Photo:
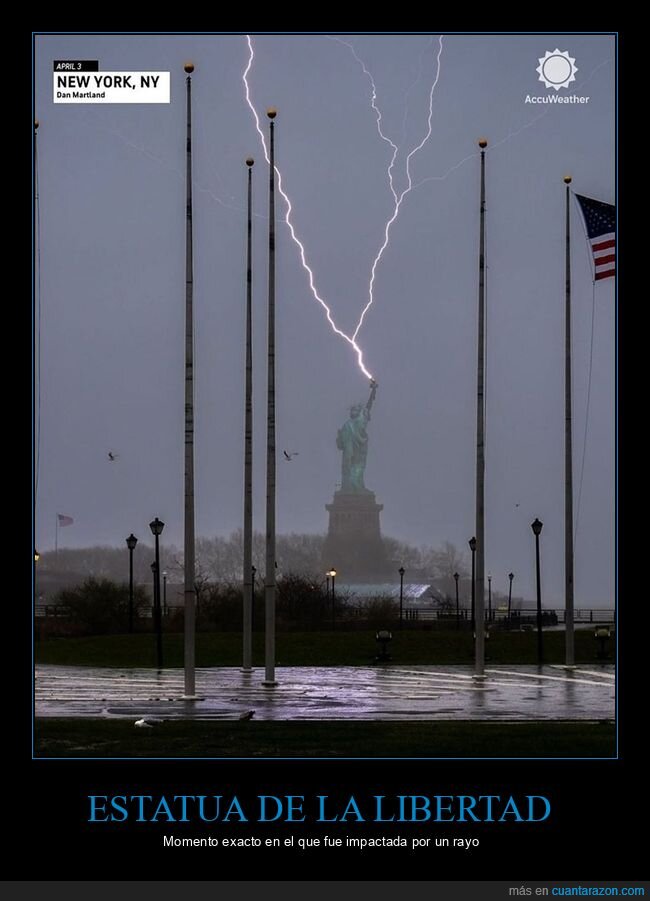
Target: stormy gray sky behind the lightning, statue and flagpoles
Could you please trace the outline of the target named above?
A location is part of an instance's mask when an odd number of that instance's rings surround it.
[[[341,36],[377,86],[385,133],[406,152],[427,132],[438,35]],[[257,36],[249,80],[258,111],[278,108],[276,160],[321,295],[353,331],[393,210],[370,83],[350,49],[325,35]],[[561,94],[588,103],[532,105],[555,94],[538,59],[576,60]],[[171,71],[166,105],[55,105],[53,59],[105,71]],[[41,401],[39,549],[56,513],[61,545],[182,544],[184,73],[196,65],[194,266],[197,534],[242,520],[244,192],[255,157],[255,526],[264,528],[266,210],[268,170],[245,102],[244,36],[42,36],[40,120]],[[563,597],[564,271],[562,176],[613,203],[615,44],[595,35],[446,35],[431,137],[413,157],[359,335],[379,382],[366,484],[382,528],[414,544],[466,549],[474,531],[478,247],[476,139],[487,154],[486,568],[493,587],[534,592],[530,523],[542,532],[545,603]],[[265,119],[265,117],[264,117]],[[264,123],[266,127],[266,122]],[[278,205],[284,216],[285,206]],[[615,575],[615,297],[594,291],[573,208],[576,603],[611,605]],[[367,379],[309,290],[295,244],[277,242],[278,530],[324,532],[340,478],[336,431]],[[593,355],[586,419],[590,349]],[[119,459],[110,463],[107,452]],[[341,574],[344,578],[344,574]]]

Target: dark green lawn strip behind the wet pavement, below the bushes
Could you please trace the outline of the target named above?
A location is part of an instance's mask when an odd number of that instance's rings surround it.
[[[537,662],[537,637],[534,632],[492,632],[486,643],[488,663],[513,664]],[[377,653],[375,631],[363,632],[278,632],[278,666],[367,666]],[[183,665],[183,636],[164,636],[163,662]],[[598,642],[592,629],[575,633],[576,663],[594,664]],[[389,652],[393,663],[433,664],[466,663],[473,659],[469,631],[393,630]],[[610,641],[608,663],[613,663],[614,641]],[[196,636],[197,666],[240,666],[241,636],[236,632],[200,632]],[[87,638],[50,638],[35,644],[37,663],[68,666],[155,666],[152,634],[98,635]],[[544,633],[545,663],[564,663],[564,632]],[[253,664],[264,664],[264,635],[253,636]]]

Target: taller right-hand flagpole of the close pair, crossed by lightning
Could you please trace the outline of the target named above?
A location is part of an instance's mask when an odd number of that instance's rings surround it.
[[[275,147],[276,110],[267,111],[269,123],[269,300],[268,300],[268,376],[266,432],[266,573],[264,682],[275,681]]]

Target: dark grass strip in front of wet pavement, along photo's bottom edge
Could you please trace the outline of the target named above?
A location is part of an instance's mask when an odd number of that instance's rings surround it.
[[[612,757],[609,722],[36,720],[37,757]]]

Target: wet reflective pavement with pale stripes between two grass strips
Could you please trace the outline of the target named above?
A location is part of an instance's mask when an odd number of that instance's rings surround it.
[[[197,699],[183,700],[183,671],[38,666],[36,716],[232,720],[613,720],[611,664],[197,669]]]

